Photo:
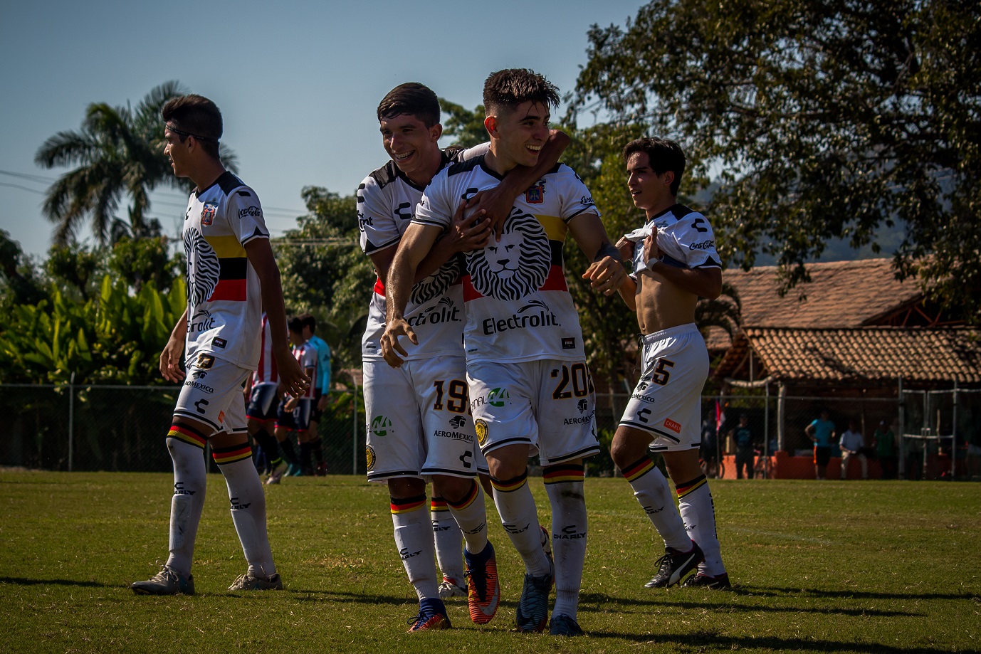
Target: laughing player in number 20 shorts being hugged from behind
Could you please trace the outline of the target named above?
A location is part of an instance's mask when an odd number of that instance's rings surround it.
[[[417,342],[404,312],[423,257],[444,229],[466,216],[464,201],[496,185],[518,166],[534,168],[548,137],[557,89],[531,71],[500,71],[484,86],[490,150],[452,164],[427,187],[388,274],[386,361],[405,365]],[[522,631],[547,624],[548,593],[556,584],[550,632],[579,635],[579,589],[586,556],[583,459],[599,450],[594,388],[579,318],[565,285],[562,244],[568,232],[584,252],[618,253],[599,221],[582,180],[563,165],[548,166],[518,196],[498,238],[466,253],[464,346],[471,410],[490,466],[494,503],[526,569],[516,623]],[[625,275],[625,274],[624,274]],[[409,350],[406,350],[406,347]],[[542,543],[528,458],[538,452],[552,508],[554,565]],[[544,546],[543,546],[544,545]]]

